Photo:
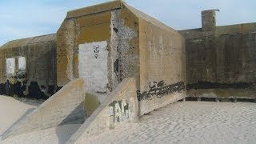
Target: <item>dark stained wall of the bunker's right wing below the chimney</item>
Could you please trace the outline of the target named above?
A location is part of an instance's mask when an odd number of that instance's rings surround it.
[[[256,23],[182,30],[188,95],[255,98]]]

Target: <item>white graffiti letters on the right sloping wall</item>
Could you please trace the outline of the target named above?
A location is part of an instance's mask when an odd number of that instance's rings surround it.
[[[129,120],[131,115],[131,103],[122,101],[114,101],[109,105],[109,114],[114,116],[114,122],[123,122]]]

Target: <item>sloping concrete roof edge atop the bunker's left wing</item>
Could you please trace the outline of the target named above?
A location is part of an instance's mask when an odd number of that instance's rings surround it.
[[[0,47],[0,49],[8,49],[8,48],[14,48],[18,46],[27,46],[34,43],[39,42],[56,42],[57,36],[56,34],[46,34],[46,35],[40,35],[36,37],[31,38],[22,38],[22,39],[16,39],[10,42],[6,42],[3,46]]]

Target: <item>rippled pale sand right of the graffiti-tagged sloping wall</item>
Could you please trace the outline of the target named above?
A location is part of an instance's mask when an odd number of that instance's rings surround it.
[[[88,143],[256,143],[256,105],[176,102]]]

